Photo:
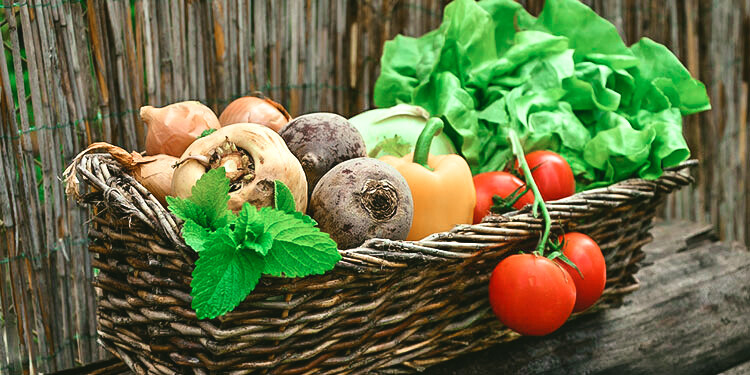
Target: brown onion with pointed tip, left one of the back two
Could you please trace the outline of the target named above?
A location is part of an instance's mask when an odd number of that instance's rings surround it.
[[[200,102],[186,101],[155,108],[141,107],[141,120],[148,125],[146,153],[179,157],[204,130],[219,129],[219,119]]]

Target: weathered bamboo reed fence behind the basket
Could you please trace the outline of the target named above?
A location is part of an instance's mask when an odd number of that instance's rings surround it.
[[[87,215],[60,174],[85,145],[142,150],[141,105],[220,111],[254,91],[292,115],[372,107],[383,42],[441,21],[441,0],[0,0],[0,374],[104,358]],[[521,1],[538,14],[542,0]],[[662,214],[750,243],[750,0],[586,0],[626,42],[669,46],[713,111],[686,119],[698,183]],[[21,78],[23,77],[23,78]]]

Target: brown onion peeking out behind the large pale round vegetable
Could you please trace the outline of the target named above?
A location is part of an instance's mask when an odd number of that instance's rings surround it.
[[[241,123],[254,123],[267,126],[279,132],[291,116],[284,107],[271,99],[245,96],[234,100],[221,112],[221,126]]]

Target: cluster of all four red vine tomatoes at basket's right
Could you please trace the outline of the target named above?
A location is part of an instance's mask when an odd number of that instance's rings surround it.
[[[575,194],[573,171],[560,155],[535,151],[525,159],[544,201]],[[523,178],[518,161],[515,170]],[[521,178],[508,171],[476,175],[474,222],[482,221],[490,211],[521,209],[534,203],[533,193]],[[571,232],[560,236],[557,243],[560,256],[512,255],[501,261],[490,277],[493,312],[504,325],[522,335],[554,332],[572,313],[594,305],[604,291],[607,267],[596,242],[583,233]]]

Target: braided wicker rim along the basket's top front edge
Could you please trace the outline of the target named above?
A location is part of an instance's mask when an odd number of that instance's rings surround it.
[[[89,184],[93,183],[97,188],[111,190],[106,184],[102,184],[101,181],[97,183],[95,181],[96,177],[85,167],[89,166],[91,168],[93,164],[96,164],[97,159],[99,163],[103,162],[120,166],[107,153],[84,155],[77,165],[71,166],[74,166],[77,172],[82,174]],[[564,226],[569,219],[580,216],[580,213],[592,213],[601,208],[617,208],[633,199],[651,198],[658,192],[669,193],[692,183],[694,179],[683,171],[696,165],[698,165],[698,160],[687,160],[675,167],[666,168],[662,176],[657,179],[630,178],[609,186],[584,190],[560,200],[545,202],[545,204],[553,223],[558,227]],[[182,226],[182,221],[166,209],[166,207],[159,204],[156,198],[143,185],[132,178],[132,176],[123,173],[122,177],[127,180],[127,183],[133,186],[134,190],[148,197],[150,202],[145,202],[147,203],[145,206],[154,211],[157,217],[164,216],[164,220],[160,220],[163,222],[163,225],[161,225],[162,228],[161,230],[156,230],[156,232],[170,245],[178,247],[183,252],[195,255],[194,250],[190,249],[178,234]],[[114,192],[105,190],[105,200],[108,203],[118,200],[117,194],[112,193]],[[131,196],[134,195],[136,194],[131,194]],[[92,203],[86,197],[77,196],[77,198],[81,203]],[[123,197],[119,198],[121,198],[120,201],[116,203],[119,206],[125,206],[121,207],[125,208],[121,210],[124,216],[136,214],[135,216],[139,216],[141,221],[153,227],[153,223],[143,220],[145,218],[143,214],[137,215],[138,213],[135,211],[138,208],[133,204],[134,202],[122,202]],[[130,204],[128,205],[128,203]],[[140,206],[144,207],[144,202],[138,203],[141,203]],[[160,217],[160,219],[162,218]],[[532,213],[531,205],[527,205],[520,210],[503,215],[488,215],[479,224],[459,224],[449,231],[434,233],[417,241],[372,238],[366,240],[358,247],[339,249],[342,260],[336,265],[336,268],[352,268],[359,272],[383,272],[387,269],[407,267],[414,261],[420,263],[432,260],[459,261],[471,258],[485,248],[497,247],[508,242],[527,239],[533,236],[535,232],[541,230],[542,223],[542,218],[535,217]],[[495,240],[504,239],[505,241],[502,243],[482,242],[478,240],[481,239],[482,235],[492,235]],[[501,237],[498,237],[498,235]],[[188,256],[187,258],[191,257]]]

